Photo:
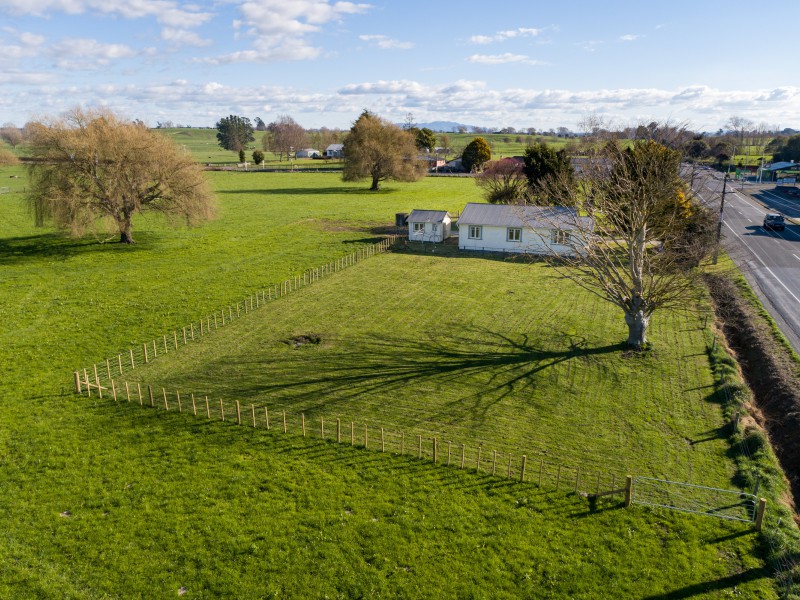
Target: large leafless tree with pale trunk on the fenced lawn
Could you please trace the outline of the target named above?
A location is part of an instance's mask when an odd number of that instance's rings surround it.
[[[573,256],[551,249],[552,264],[618,306],[628,346],[637,349],[647,344],[656,310],[685,306],[693,289],[691,267],[713,240],[713,219],[709,224],[705,209],[687,195],[680,162],[677,151],[652,140],[627,149],[609,142],[582,170],[577,186],[555,178],[540,184],[556,204],[580,207],[565,213],[569,222],[556,236]]]

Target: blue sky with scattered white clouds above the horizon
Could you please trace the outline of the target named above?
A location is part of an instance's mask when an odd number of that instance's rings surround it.
[[[800,129],[796,4],[729,0],[0,0],[0,123],[107,107],[349,128],[578,131],[732,116]]]

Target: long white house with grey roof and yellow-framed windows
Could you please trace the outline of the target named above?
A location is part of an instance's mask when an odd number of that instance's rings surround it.
[[[575,253],[574,236],[591,229],[589,217],[556,206],[470,202],[458,219],[460,250],[564,255]]]

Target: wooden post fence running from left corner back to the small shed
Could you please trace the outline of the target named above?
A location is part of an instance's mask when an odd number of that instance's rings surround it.
[[[173,330],[168,334],[163,334],[160,338],[154,338],[149,342],[142,343],[141,346],[129,348],[124,352],[118,353],[116,356],[106,358],[100,363],[93,364],[91,367],[88,367],[94,375],[94,383],[90,385],[97,390],[98,394],[101,394],[110,386],[112,379],[123,378],[126,373],[136,369],[137,366],[141,367],[141,365],[148,364],[161,354],[176,352],[181,346],[185,346],[189,342],[197,341],[220,327],[224,327],[231,321],[240,319],[244,315],[274,300],[278,300],[291,292],[307,287],[320,279],[338,273],[362,260],[387,252],[397,241],[398,237],[400,236],[387,236],[377,244],[364,246],[351,254],[337,258],[324,265],[306,269],[300,275],[295,275],[280,283],[256,290],[254,294],[250,294],[243,300],[217,309],[211,314],[204,315],[197,321],[192,321],[180,329]],[[75,390],[78,393],[81,392],[81,382],[79,381],[81,371],[86,370],[87,368],[83,368],[75,371]],[[88,377],[84,377],[84,381],[86,380],[88,380]],[[101,383],[104,383],[105,387],[97,387]]]

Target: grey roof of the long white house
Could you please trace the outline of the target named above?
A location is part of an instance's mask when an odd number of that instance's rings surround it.
[[[460,225],[529,227],[532,229],[591,228],[589,217],[577,217],[571,208],[561,206],[518,206],[470,202],[458,218]]]

